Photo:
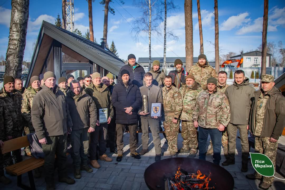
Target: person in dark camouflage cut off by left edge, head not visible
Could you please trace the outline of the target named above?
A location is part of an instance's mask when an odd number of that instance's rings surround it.
[[[7,109],[6,103],[0,99],[0,148],[8,140],[8,136],[13,135],[13,121]],[[10,153],[6,153],[10,154]],[[0,153],[0,182],[11,183],[11,180],[4,175],[5,159]]]

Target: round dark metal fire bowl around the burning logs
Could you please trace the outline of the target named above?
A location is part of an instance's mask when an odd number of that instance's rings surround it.
[[[144,171],[144,181],[151,190],[163,190],[165,177],[173,177],[180,166],[188,173],[201,173],[208,176],[211,173],[209,187],[215,190],[232,190],[234,188],[233,176],[223,167],[212,162],[196,158],[168,158],[154,162]]]

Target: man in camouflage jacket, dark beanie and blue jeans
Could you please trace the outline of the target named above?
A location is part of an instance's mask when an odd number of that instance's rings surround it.
[[[213,163],[220,164],[222,132],[229,124],[230,106],[224,93],[217,91],[217,79],[207,80],[207,90],[197,98],[193,112],[194,127],[199,126],[199,159],[206,160],[206,144],[210,134],[213,143]]]

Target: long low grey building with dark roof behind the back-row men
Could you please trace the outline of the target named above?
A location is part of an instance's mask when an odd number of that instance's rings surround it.
[[[166,57],[166,67],[174,67],[174,61],[176,59],[180,59],[183,63],[183,67],[186,67],[186,57]],[[154,60],[158,60],[160,62],[160,67],[163,68],[164,64],[163,64],[163,57],[152,57],[151,58],[151,62],[153,62]],[[140,64],[143,67],[148,67],[148,62],[149,62],[149,58],[148,57],[140,57],[138,59],[138,64]],[[195,65],[198,62],[198,57],[193,57],[193,65]],[[215,67],[215,62],[209,62],[209,64],[212,67]]]

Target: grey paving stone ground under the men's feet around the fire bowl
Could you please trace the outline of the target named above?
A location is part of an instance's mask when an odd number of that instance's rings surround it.
[[[130,157],[130,150],[129,150],[129,134],[124,134],[124,154],[122,162],[116,162],[117,155],[107,152],[106,154],[113,159],[112,162],[105,162],[99,160],[99,164],[101,167],[99,169],[93,168],[92,173],[87,173],[86,171],[82,171],[81,179],[75,179],[76,183],[73,185],[67,185],[66,183],[59,183],[57,182],[57,171],[55,171],[54,181],[56,189],[58,190],[145,190],[148,189],[146,183],[144,182],[144,170],[150,164],[154,163],[154,145],[152,143],[152,136],[151,133],[149,134],[149,152],[146,153],[144,156],[141,156],[140,160],[136,160],[133,157]],[[161,145],[162,145],[162,152],[166,151],[167,144],[164,144],[165,139],[162,134],[160,134],[161,138]],[[285,136],[281,136],[279,141],[281,144],[285,144]],[[209,144],[209,139],[208,142]],[[182,137],[179,133],[178,135],[178,149],[182,147]],[[139,148],[137,152],[142,149],[141,146],[141,134],[139,134]],[[254,152],[254,149],[251,149],[251,152]],[[222,160],[221,162],[225,161],[225,156],[223,155],[223,150],[221,151]],[[187,157],[188,154],[178,154],[178,157]],[[170,158],[170,156],[161,156],[161,159]],[[198,158],[198,154],[195,158]],[[212,162],[212,156],[206,157],[207,161]],[[72,158],[68,156],[68,175],[74,178],[73,174],[73,165],[72,165]],[[221,166],[221,164],[220,164]],[[259,180],[249,180],[245,177],[246,174],[253,173],[254,169],[251,165],[249,160],[249,171],[247,173],[241,172],[241,142],[240,139],[237,138],[237,150],[236,150],[236,159],[235,165],[230,166],[221,166],[227,169],[235,180],[235,188],[234,189],[259,189],[258,184],[260,183]],[[44,168],[41,168],[42,177],[35,179],[36,189],[45,190],[46,183],[44,181]],[[7,176],[7,175],[6,175]],[[275,173],[275,176],[278,178],[284,179],[279,173]],[[12,180],[12,183],[9,185],[2,185],[0,189],[2,190],[16,190],[21,189],[17,187],[17,177],[7,176]],[[29,185],[28,175],[25,173],[22,177],[22,181],[24,184]],[[274,179],[274,183],[269,188],[270,190],[281,190],[285,189],[285,180]]]

